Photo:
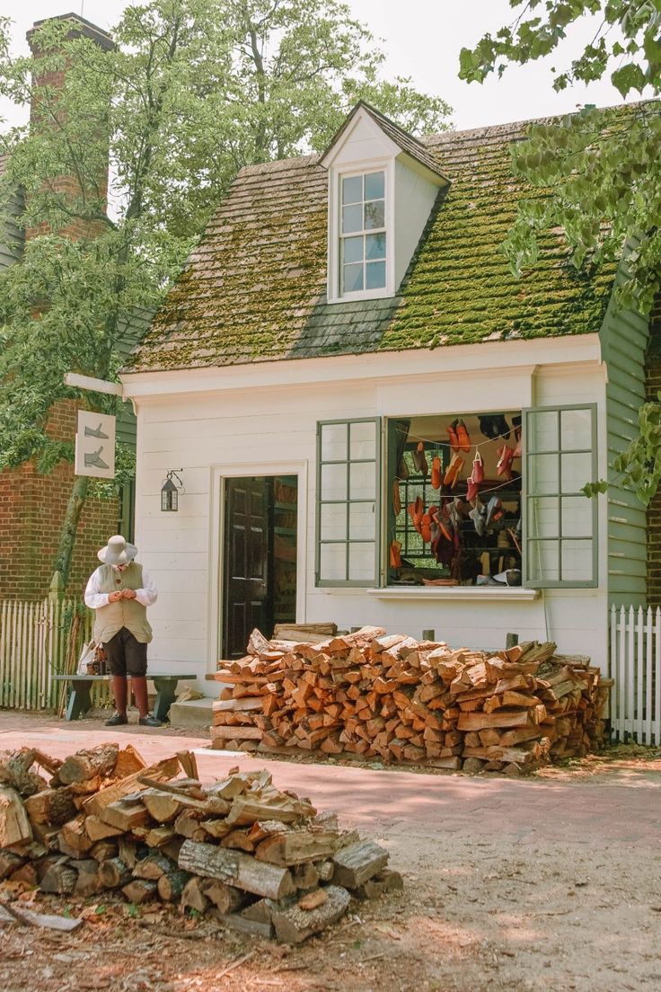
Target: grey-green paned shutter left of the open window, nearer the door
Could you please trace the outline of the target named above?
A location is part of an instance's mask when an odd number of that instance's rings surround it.
[[[381,418],[317,424],[316,585],[375,585]]]

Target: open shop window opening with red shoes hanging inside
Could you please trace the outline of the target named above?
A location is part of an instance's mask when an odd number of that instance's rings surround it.
[[[521,442],[521,411],[388,421],[388,585],[521,585]]]

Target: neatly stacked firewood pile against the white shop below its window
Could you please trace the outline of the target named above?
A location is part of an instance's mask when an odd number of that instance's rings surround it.
[[[528,642],[453,650],[383,628],[320,643],[267,641],[221,662],[211,740],[229,750],[302,748],[467,772],[530,771],[604,736],[607,682],[590,659]]]

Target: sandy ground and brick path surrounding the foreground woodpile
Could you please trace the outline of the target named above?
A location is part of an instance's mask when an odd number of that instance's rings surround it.
[[[63,756],[119,737],[147,758],[206,743],[0,713],[0,749],[34,743]],[[205,780],[235,764],[269,767],[276,785],[337,810],[388,848],[404,891],[352,904],[337,927],[296,948],[105,894],[86,905],[26,894],[85,923],[63,936],[5,927],[0,989],[661,988],[661,753],[620,748],[518,781],[197,755]]]

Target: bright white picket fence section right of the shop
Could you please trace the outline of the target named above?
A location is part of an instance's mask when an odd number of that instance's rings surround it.
[[[610,608],[610,728],[661,747],[661,609]]]

